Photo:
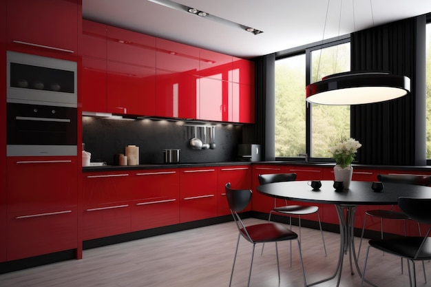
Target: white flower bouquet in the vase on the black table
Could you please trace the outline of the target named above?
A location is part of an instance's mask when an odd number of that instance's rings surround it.
[[[355,138],[341,138],[341,140],[335,142],[333,147],[330,147],[329,152],[333,154],[335,162],[344,169],[353,162],[357,150],[361,146]]]

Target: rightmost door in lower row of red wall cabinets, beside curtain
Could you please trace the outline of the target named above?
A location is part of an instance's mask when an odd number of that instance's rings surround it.
[[[231,85],[229,122],[255,123],[255,87],[239,83],[231,83]]]

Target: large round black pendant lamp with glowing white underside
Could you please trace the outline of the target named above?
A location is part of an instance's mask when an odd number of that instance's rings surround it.
[[[327,18],[328,9],[326,10]],[[407,76],[374,71],[344,72],[326,76],[322,78],[322,81],[307,85],[306,101],[319,105],[361,105],[393,100],[405,96],[409,92],[410,78]]]

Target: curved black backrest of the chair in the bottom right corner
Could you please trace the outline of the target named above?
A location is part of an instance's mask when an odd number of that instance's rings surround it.
[[[423,224],[431,224],[431,198],[399,198],[398,206],[412,220]]]

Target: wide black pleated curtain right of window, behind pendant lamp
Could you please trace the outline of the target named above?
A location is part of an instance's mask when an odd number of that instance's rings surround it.
[[[361,164],[425,165],[425,16],[355,32],[351,70],[408,76],[411,92],[385,103],[351,107],[351,136]]]

